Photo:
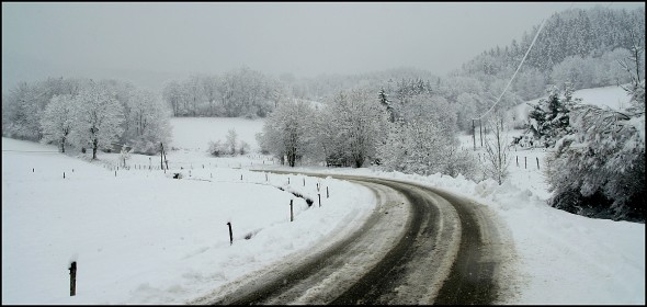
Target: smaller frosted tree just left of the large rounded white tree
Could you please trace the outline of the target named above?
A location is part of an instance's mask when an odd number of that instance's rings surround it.
[[[72,130],[72,107],[71,95],[55,95],[45,107],[41,118],[42,141],[58,143],[60,152],[65,152],[65,145],[68,143],[69,134]]]

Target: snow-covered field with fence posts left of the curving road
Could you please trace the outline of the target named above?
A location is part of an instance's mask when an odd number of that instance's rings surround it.
[[[116,154],[90,163],[54,146],[2,138],[2,303],[182,304],[351,231],[374,205],[368,190],[344,181],[307,178],[303,186],[304,177],[287,184],[288,175],[277,174],[265,181],[264,173],[216,167],[195,151],[169,152],[171,166],[178,156],[196,166],[164,174],[139,169],[149,161],[137,156],[129,170],[113,170]],[[316,183],[330,191],[321,207]],[[315,204],[308,208],[277,187]],[[71,261],[78,262],[73,297]]]

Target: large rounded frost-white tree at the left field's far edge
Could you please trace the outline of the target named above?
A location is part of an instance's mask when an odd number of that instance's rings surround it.
[[[80,147],[92,148],[92,159],[100,148],[111,148],[124,130],[122,104],[98,84],[79,92],[73,114],[71,138]]]

